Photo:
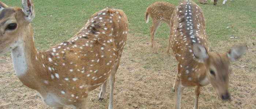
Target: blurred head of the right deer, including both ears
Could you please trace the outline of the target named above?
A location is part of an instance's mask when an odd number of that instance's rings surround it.
[[[193,53],[195,57],[206,66],[206,76],[218,96],[222,100],[229,99],[229,74],[230,61],[235,61],[247,50],[246,45],[233,47],[225,55],[208,55],[206,48],[194,44]]]

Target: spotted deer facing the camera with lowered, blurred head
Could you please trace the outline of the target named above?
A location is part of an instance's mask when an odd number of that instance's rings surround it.
[[[229,99],[230,61],[241,57],[247,47],[241,45],[231,48],[225,54],[210,54],[203,12],[193,1],[178,4],[173,12],[171,24],[169,44],[172,44],[173,53],[178,61],[178,73],[173,87],[174,109],[180,109],[185,87],[196,86],[194,109],[198,108],[200,87],[209,83],[222,100]]]

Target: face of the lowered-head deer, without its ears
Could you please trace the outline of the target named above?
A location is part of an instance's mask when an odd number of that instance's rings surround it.
[[[229,99],[230,61],[227,55],[210,55],[206,65],[206,76],[222,100]]]

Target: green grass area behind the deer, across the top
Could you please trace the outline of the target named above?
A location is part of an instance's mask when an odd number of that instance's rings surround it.
[[[149,36],[151,22],[146,24],[144,13],[148,5],[156,0],[34,0],[36,16],[31,23],[35,43],[39,50],[45,50],[61,41],[68,40],[83,27],[85,21],[93,13],[112,7],[122,9],[129,19],[129,33],[136,37]],[[181,0],[163,0],[177,5]],[[16,0],[3,0],[9,6],[20,7]],[[199,4],[198,0],[195,0]],[[230,36],[237,37],[239,42],[243,36],[255,40],[256,1],[234,0],[225,5],[219,1],[217,6],[210,0],[206,5],[199,4],[206,19],[206,33],[211,42],[218,40],[233,41]],[[230,27],[230,28],[226,28]],[[168,27],[162,24],[156,37],[167,39]]]

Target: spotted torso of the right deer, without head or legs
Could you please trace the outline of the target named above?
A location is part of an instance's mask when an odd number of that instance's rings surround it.
[[[192,45],[198,43],[208,50],[202,9],[193,1],[184,1],[174,10],[171,24],[172,49],[179,62],[178,78],[191,81],[192,72],[204,70],[199,67],[202,63],[196,61]]]

